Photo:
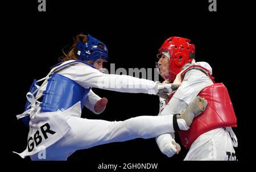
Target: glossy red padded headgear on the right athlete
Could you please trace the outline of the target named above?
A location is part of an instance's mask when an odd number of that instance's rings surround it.
[[[169,82],[174,82],[176,75],[183,66],[195,59],[195,45],[189,44],[190,40],[183,37],[170,37],[164,41],[159,53],[164,51],[170,54],[169,59]]]

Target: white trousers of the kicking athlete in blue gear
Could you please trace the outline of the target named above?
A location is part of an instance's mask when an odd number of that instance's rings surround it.
[[[68,156],[79,149],[109,142],[156,137],[174,132],[172,118],[173,115],[138,116],[125,121],[105,121],[69,116],[67,123],[71,130],[46,150],[30,157],[31,160],[67,160]]]

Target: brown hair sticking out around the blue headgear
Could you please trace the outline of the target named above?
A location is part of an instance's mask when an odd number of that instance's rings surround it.
[[[64,48],[65,48],[64,47],[62,49],[63,56],[59,57],[59,61],[63,61],[64,62],[64,61],[68,61],[68,60],[77,60],[77,57],[76,57],[76,54],[75,54],[75,48],[76,48],[76,45],[77,45],[78,41],[80,41],[82,43],[87,43],[88,42],[87,35],[83,35],[81,33],[79,35],[77,35],[76,38],[74,38],[73,45],[69,48],[69,51],[68,51],[67,54],[64,52]],[[101,44],[98,45],[98,48],[104,49],[104,47]],[[90,60],[90,61],[86,61],[86,62],[92,64],[93,61]]]

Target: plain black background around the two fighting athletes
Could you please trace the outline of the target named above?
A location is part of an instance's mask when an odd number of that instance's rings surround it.
[[[196,61],[207,61],[213,68],[213,77],[228,87],[238,127],[236,148],[238,160],[251,160],[249,149],[251,118],[244,97],[247,85],[245,76],[250,73],[250,61],[244,54],[246,38],[250,35],[245,12],[245,3],[217,1],[217,12],[208,10],[208,1],[46,1],[46,12],[39,12],[37,1],[9,2],[9,10],[2,16],[5,45],[5,72],[8,86],[7,121],[3,138],[5,159],[24,160],[11,151],[22,152],[26,148],[27,128],[15,115],[21,114],[26,102],[26,93],[34,78],[43,78],[48,68],[56,64],[61,49],[71,45],[79,33],[90,34],[106,44],[109,62],[117,68],[154,68],[158,48],[171,36],[187,37],[196,46]],[[4,7],[3,7],[4,8]],[[246,13],[249,13],[248,10]],[[249,23],[250,24],[250,23]],[[242,28],[246,28],[242,30]],[[8,91],[12,90],[12,91]],[[109,100],[101,115],[84,109],[83,118],[125,120],[139,115],[157,115],[158,97],[146,94],[127,94],[93,89]],[[248,93],[246,95],[253,95]],[[254,115],[254,114],[251,114]],[[6,135],[5,135],[6,134]],[[176,137],[179,141],[178,137]],[[135,139],[126,142],[100,145],[79,150],[68,160],[86,160],[86,163],[101,162],[163,162],[183,160],[187,150],[167,158],[160,153],[155,139]],[[92,162],[92,163],[90,163]]]

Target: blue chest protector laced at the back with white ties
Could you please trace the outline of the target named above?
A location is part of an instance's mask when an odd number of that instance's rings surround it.
[[[92,66],[84,61],[73,62],[82,62],[86,65]],[[71,63],[65,65],[69,65]],[[61,66],[61,68],[65,65]],[[94,68],[94,66],[92,66],[92,68]],[[30,87],[30,93],[33,93],[37,89],[35,85],[37,85],[36,80],[34,80]],[[43,112],[54,112],[57,110],[67,110],[69,107],[72,107],[80,101],[82,109],[89,91],[90,88],[85,89],[72,79],[64,77],[61,74],[54,73],[50,78],[48,78],[46,90],[43,91],[43,101],[39,106]],[[25,111],[28,109],[27,107],[29,104],[30,102],[27,101]],[[22,120],[26,126],[29,127],[30,116],[25,116]]]

